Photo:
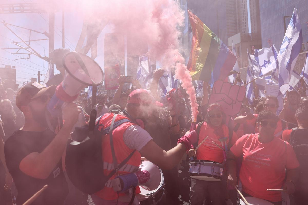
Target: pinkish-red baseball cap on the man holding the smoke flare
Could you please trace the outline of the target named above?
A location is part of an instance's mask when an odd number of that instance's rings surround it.
[[[145,89],[134,90],[128,95],[127,102],[135,104],[156,104],[160,107],[164,106],[164,104],[155,100],[151,91]]]

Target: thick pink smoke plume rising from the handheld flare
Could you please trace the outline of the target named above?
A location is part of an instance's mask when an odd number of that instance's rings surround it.
[[[124,35],[129,39],[127,46],[130,52],[140,51],[140,44],[149,47],[151,59],[160,61],[163,68],[171,67],[176,70],[176,77],[183,84],[191,101],[193,118],[197,119],[198,104],[192,78],[184,65],[180,54],[179,28],[184,25],[184,11],[174,0],[53,0],[53,5],[62,5],[62,10],[78,12],[84,21],[92,25],[112,25],[115,36],[115,47],[112,50],[124,48]],[[50,8],[45,8],[50,9]],[[60,8],[59,8],[60,9]],[[133,49],[132,49],[133,48]],[[139,53],[142,54],[142,53]]]

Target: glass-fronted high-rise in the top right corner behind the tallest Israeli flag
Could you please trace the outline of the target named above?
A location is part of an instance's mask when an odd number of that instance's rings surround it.
[[[284,17],[286,19],[287,28],[291,19],[287,16],[292,16],[294,7],[298,12],[299,22],[302,26],[303,42],[305,44],[305,50],[307,50],[308,1],[303,0],[260,0],[261,38],[263,47],[269,47],[270,41],[271,44],[275,44],[278,50],[280,49],[285,35]]]

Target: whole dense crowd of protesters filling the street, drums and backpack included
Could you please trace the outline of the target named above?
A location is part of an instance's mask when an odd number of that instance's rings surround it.
[[[63,119],[46,107],[64,74],[48,87],[16,89],[3,81],[0,204],[21,205],[38,191],[26,204],[308,203],[308,101],[301,92],[287,92],[281,102],[266,93],[252,104],[244,98],[240,112],[226,120],[224,104],[209,104],[211,86],[203,82],[193,122],[181,85],[161,97],[163,73],[154,71],[149,89],[132,79],[125,91],[120,76],[115,94],[98,94],[95,103],[82,91],[64,105]],[[81,128],[90,126],[93,109],[95,137],[85,138]]]

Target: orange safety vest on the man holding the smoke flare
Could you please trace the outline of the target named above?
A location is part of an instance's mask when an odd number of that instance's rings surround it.
[[[103,115],[103,117],[99,121],[99,124],[103,124],[104,126],[99,126],[98,129],[101,130],[103,127],[105,128],[109,127],[111,125],[113,116],[114,113],[106,113],[105,115]],[[122,119],[128,119],[128,118],[122,115],[117,115],[115,118],[115,122]],[[132,122],[125,122],[112,131],[113,146],[115,149],[115,156],[118,164],[123,162],[126,159],[126,157],[128,157],[128,155],[130,155],[134,151],[133,149],[128,148],[128,146],[124,143],[123,140],[123,135],[125,130],[129,128],[131,125],[136,125],[136,124]],[[109,134],[103,136],[102,138],[102,154],[103,154],[104,175],[107,176],[112,170],[114,170]],[[128,160],[128,162],[122,168],[119,169],[118,173],[119,175],[124,175],[135,172],[138,170],[140,164],[141,164],[141,155],[139,152],[136,151],[132,155],[132,157]],[[111,176],[111,178],[105,184],[105,187],[102,190],[96,192],[95,195],[99,196],[104,200],[116,200],[118,196],[117,193],[113,190],[111,184],[111,180],[114,179],[115,177],[116,175]],[[136,187],[136,194],[137,193],[140,193],[139,187]],[[125,195],[125,193],[119,193],[119,196],[121,195]]]

